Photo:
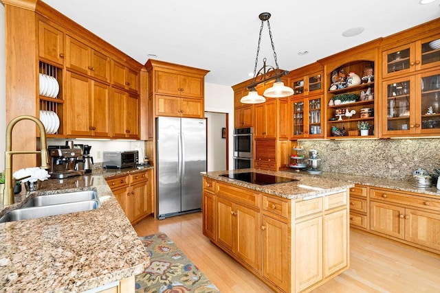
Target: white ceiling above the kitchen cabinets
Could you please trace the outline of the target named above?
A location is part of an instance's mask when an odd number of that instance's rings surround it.
[[[440,17],[440,0],[44,0],[142,64],[157,60],[208,69],[206,82],[232,86],[254,71],[261,12],[270,12],[278,65],[292,70]],[[362,34],[343,37],[351,27]],[[299,56],[298,51],[309,54]],[[267,23],[259,55],[275,65]],[[252,76],[251,76],[252,77]]]

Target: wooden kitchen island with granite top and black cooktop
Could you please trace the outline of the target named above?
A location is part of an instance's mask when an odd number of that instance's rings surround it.
[[[230,178],[246,173],[277,179]],[[307,292],[349,268],[353,183],[260,169],[202,176],[203,234],[274,290]]]

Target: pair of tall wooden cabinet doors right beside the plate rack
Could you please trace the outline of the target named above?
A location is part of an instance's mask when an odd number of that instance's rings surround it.
[[[66,85],[67,134],[109,137],[109,86],[70,71]]]

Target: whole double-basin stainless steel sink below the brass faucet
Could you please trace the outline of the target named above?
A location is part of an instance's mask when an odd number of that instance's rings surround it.
[[[100,207],[96,191],[77,191],[65,194],[36,196],[23,207],[6,212],[0,223],[43,218],[78,211],[91,211]]]

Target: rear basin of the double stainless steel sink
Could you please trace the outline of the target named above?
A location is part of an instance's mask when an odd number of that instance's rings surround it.
[[[65,194],[48,194],[46,196],[36,196],[31,198],[23,207],[43,207],[52,204],[64,204],[67,202],[80,202],[84,200],[98,200],[98,195],[94,190],[67,192]]]

